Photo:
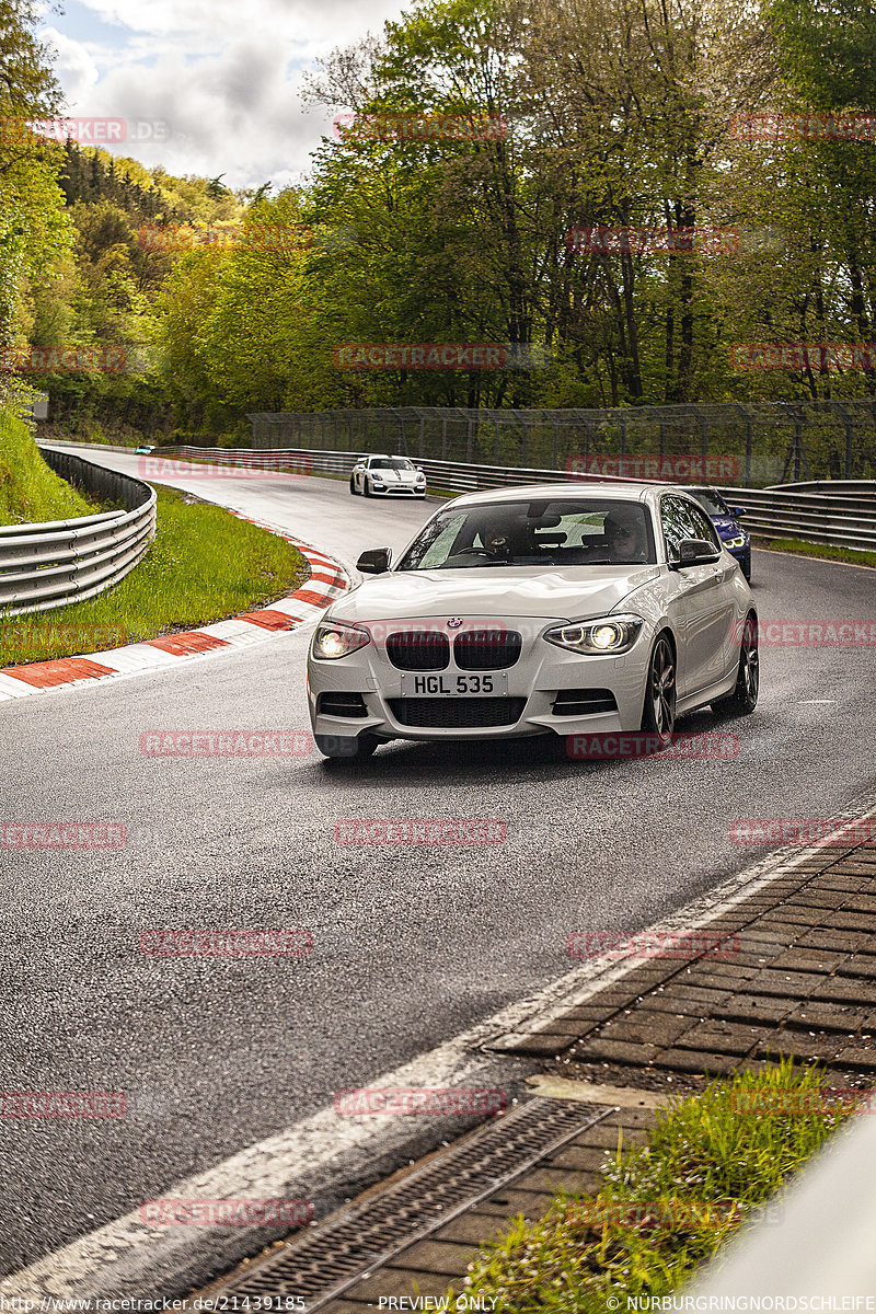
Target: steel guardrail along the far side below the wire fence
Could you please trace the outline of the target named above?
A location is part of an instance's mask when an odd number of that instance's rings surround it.
[[[176,455],[190,460],[209,460],[219,465],[284,468],[298,474],[349,474],[357,456],[351,452],[323,452],[309,448],[159,448],[148,457],[151,466],[163,456]],[[416,460],[416,459],[415,459]],[[453,461],[416,461],[426,472],[432,491],[474,493],[481,489],[519,487],[527,484],[559,484],[570,476],[565,470],[504,469],[500,465],[468,465]],[[171,463],[168,461],[168,468]],[[159,466],[160,470],[160,466]],[[169,469],[168,469],[169,473]],[[160,473],[151,476],[160,478]],[[578,481],[577,481],[578,482]],[[580,482],[587,482],[582,477]],[[609,480],[608,482],[628,482]],[[876,484],[860,481],[822,481],[817,485],[784,485],[774,489],[724,487],[729,502],[745,506],[746,527],[760,539],[805,539],[859,551],[876,551]],[[818,489],[818,491],[810,491]]]

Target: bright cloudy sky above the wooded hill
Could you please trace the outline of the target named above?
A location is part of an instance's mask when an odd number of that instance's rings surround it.
[[[60,0],[42,39],[71,118],[123,121],[106,148],[226,187],[301,181],[331,113],[305,105],[302,74],[398,17],[401,0]],[[84,133],[85,135],[80,135]],[[105,145],[101,142],[101,145]]]

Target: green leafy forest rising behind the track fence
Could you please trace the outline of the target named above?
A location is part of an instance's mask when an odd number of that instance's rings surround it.
[[[81,436],[876,397],[867,0],[420,0],[307,78],[334,126],[282,191],[14,130],[62,99],[29,0],[0,32],[0,388]],[[436,343],[502,365],[398,350]]]

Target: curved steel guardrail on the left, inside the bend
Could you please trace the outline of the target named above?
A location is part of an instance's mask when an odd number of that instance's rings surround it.
[[[118,511],[0,527],[0,616],[92,598],[133,570],[155,536],[155,490],[72,452],[42,448],[63,478]]]

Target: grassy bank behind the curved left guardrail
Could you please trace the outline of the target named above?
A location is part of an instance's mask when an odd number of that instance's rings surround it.
[[[101,510],[49,469],[24,420],[0,410],[0,524],[67,520]]]

